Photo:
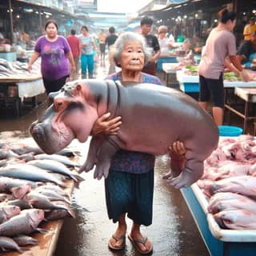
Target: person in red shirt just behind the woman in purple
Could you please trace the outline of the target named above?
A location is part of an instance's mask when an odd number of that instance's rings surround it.
[[[75,70],[70,72],[70,80],[78,79],[79,73],[80,41],[75,33],[75,30],[70,30],[70,35],[66,38],[67,42],[69,42],[75,65]]]

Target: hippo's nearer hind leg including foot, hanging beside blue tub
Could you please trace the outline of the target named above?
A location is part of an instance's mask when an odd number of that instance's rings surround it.
[[[182,173],[176,178],[170,180],[170,184],[177,189],[190,186],[194,182],[198,181],[203,174],[203,162],[192,158],[186,161],[186,166]]]

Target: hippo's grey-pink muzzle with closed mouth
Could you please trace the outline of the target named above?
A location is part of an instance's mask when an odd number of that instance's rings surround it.
[[[62,150],[69,145],[74,138],[74,134],[71,130],[63,134],[57,130],[53,131],[51,126],[45,126],[42,122],[38,121],[33,122],[30,126],[30,134],[46,154],[54,154]]]

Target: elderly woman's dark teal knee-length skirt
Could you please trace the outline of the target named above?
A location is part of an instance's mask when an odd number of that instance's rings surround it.
[[[129,174],[110,169],[105,190],[107,213],[113,222],[127,213],[137,224],[152,224],[154,170],[146,174]]]

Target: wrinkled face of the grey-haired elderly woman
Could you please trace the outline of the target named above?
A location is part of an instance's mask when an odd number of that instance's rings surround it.
[[[140,71],[145,62],[141,42],[126,42],[119,61],[122,70]]]

